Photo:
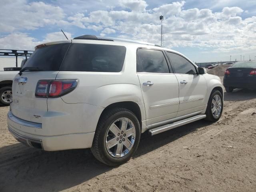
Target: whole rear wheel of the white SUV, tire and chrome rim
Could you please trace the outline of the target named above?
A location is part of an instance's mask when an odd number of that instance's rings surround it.
[[[115,108],[98,122],[92,154],[102,163],[117,166],[128,161],[140,141],[140,123],[130,110]]]

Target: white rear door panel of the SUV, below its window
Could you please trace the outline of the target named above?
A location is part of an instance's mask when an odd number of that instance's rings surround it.
[[[138,73],[146,109],[146,124],[176,117],[179,109],[179,87],[174,74]],[[152,86],[143,85],[153,82]]]

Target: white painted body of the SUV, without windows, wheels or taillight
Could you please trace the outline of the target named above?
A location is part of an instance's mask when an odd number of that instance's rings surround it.
[[[196,111],[204,114],[212,89],[217,86],[222,88],[220,78],[209,74],[179,76],[136,73],[137,48],[169,50],[166,48],[119,41],[72,40],[72,43],[125,46],[124,65],[118,73],[23,72],[22,77],[27,77],[28,82],[13,84],[13,98],[19,102],[11,104],[11,112],[28,123],[42,124],[42,128],[24,126],[10,119],[8,126],[21,135],[41,139],[44,150],[90,148],[100,115],[110,104],[126,101],[138,104],[144,132],[153,123]],[[179,82],[184,78],[189,83],[181,87]],[[38,80],[46,79],[77,79],[78,86],[61,98],[36,98],[34,94]],[[143,82],[147,81],[154,82],[154,85],[143,86]],[[196,100],[198,98],[203,99]],[[35,118],[34,115],[40,117]]]

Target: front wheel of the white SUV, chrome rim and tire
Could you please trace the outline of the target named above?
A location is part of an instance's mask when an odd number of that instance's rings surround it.
[[[218,90],[213,90],[208,100],[206,109],[206,120],[216,122],[220,119],[223,110],[222,94]]]

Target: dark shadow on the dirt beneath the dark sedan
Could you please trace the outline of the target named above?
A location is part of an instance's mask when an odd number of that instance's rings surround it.
[[[256,90],[234,89],[233,92],[224,92],[224,101],[245,101],[256,98]]]

